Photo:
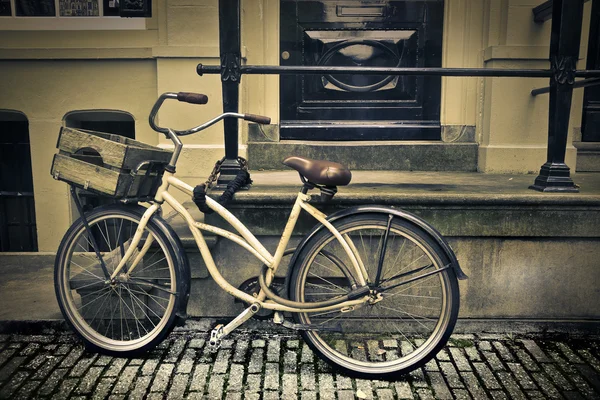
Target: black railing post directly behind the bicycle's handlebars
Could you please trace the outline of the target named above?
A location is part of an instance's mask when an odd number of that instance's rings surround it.
[[[219,0],[219,48],[221,55],[221,86],[223,112],[238,112],[241,65],[240,0]],[[225,161],[217,185],[226,186],[233,180],[240,164],[238,158],[238,120],[226,118]]]

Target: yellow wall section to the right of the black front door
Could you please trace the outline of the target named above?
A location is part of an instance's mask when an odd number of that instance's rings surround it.
[[[487,0],[484,7],[483,65],[487,68],[548,69],[551,21],[533,22],[531,9],[539,0]],[[585,57],[591,3],[585,5],[580,56]],[[580,59],[579,66],[585,66]],[[479,169],[492,173],[538,173],[546,162],[548,95],[532,97],[531,90],[548,86],[548,79],[486,78],[480,88]],[[575,90],[573,127],[581,125],[583,91]],[[572,138],[566,163],[575,168]]]

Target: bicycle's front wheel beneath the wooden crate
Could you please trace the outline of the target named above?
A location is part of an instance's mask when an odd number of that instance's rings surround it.
[[[125,206],[92,211],[87,215],[89,230],[77,220],[56,256],[54,284],[60,309],[85,344],[102,353],[125,356],[150,349],[175,322],[181,287],[175,250],[156,222],[148,222],[115,279],[109,279],[102,267],[104,263],[109,275],[115,271],[142,212]]]

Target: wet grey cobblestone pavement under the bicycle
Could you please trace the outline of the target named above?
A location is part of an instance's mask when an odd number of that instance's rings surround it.
[[[452,336],[396,382],[350,379],[292,333],[242,331],[216,354],[208,332],[178,329],[141,358],[84,351],[71,333],[0,335],[0,398],[598,399],[600,338]]]

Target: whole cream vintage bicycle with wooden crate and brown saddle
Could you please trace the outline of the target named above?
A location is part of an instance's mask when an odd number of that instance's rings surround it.
[[[351,172],[338,163],[302,157],[284,160],[298,171],[302,186],[274,254],[211,197],[201,196],[205,211],[217,213],[237,233],[196,221],[169,193],[171,188],[190,196],[195,191],[175,176],[180,136],[224,118],[262,124],[270,119],[227,112],[184,131],[157,126],[161,105],[173,99],[208,101],[204,95],[181,92],[158,98],[150,125],[173,142],[172,152],[114,135],[61,132],[52,174],[71,185],[80,217],[58,249],[55,288],[66,321],[86,346],[131,356],[153,348],[185,320],[190,268],[180,239],[161,217],[167,204],[187,224],[212,278],[247,305],[231,322],[212,330],[207,345],[213,349],[260,310],[271,310],[273,322],[300,331],[318,356],[349,375],[393,379],[437,354],[456,323],[457,278],[465,275],[431,225],[408,212],[375,205],[325,215],[311,204],[308,192],[319,189],[327,201],[338,186],[350,182]],[[84,212],[76,188],[119,201]],[[317,223],[295,249],[286,250],[303,211]],[[264,264],[253,293],[223,278],[202,231],[237,243],[240,251]],[[274,290],[275,272],[287,255],[284,287]]]

